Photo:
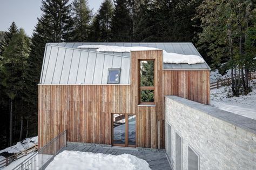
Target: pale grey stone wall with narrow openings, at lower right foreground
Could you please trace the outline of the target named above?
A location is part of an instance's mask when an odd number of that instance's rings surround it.
[[[175,135],[181,136],[182,169],[188,146],[199,156],[199,169],[256,169],[256,120],[176,96],[165,97],[166,152],[176,169]],[[169,133],[170,134],[170,133]]]

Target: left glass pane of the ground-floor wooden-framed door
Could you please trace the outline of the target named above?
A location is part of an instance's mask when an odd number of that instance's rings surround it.
[[[125,114],[113,114],[113,143],[125,144]]]

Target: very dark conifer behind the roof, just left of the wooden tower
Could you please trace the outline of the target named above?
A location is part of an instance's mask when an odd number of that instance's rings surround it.
[[[114,12],[111,20],[113,42],[132,42],[132,11],[127,0],[114,1]]]

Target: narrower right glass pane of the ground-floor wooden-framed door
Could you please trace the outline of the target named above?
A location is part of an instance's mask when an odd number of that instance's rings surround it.
[[[128,145],[136,145],[136,115],[128,116]]]

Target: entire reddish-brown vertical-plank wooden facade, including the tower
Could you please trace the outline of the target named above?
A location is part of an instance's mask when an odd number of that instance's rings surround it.
[[[130,85],[38,85],[38,142],[112,144],[111,114],[136,114],[136,147],[165,148],[164,96],[210,104],[210,71],[163,70],[161,50],[131,52]],[[138,61],[154,59],[155,105],[138,105]]]

